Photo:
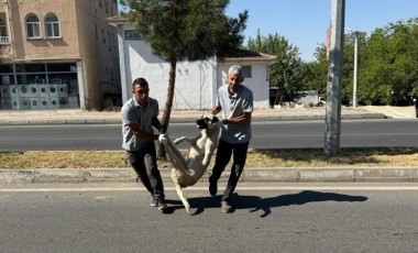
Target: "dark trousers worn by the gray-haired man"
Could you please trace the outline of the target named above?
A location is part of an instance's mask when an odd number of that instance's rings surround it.
[[[212,169],[212,175],[209,177],[209,183],[218,182],[229,161],[233,154],[233,163],[231,167],[231,174],[228,179],[227,188],[223,191],[222,200],[230,201],[233,191],[235,190],[238,180],[242,172],[244,170],[244,165],[246,161],[246,153],[249,151],[249,144],[231,144],[226,141],[219,140],[219,145],[217,150],[217,157],[215,166]]]

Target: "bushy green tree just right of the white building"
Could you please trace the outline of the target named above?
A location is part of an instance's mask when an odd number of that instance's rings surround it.
[[[271,86],[277,87],[280,96],[274,103],[294,100],[299,96],[302,81],[299,75],[301,59],[297,47],[277,33],[267,36],[258,33],[255,38],[249,38],[246,48],[278,56],[278,61],[271,66]]]

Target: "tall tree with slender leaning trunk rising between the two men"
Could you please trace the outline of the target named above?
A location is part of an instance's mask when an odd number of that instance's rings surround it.
[[[173,107],[176,64],[202,61],[231,52],[243,42],[248,11],[238,19],[224,15],[229,0],[120,0],[122,12],[153,53],[169,63],[167,100],[162,118],[168,128]],[[165,157],[164,148],[160,147]]]

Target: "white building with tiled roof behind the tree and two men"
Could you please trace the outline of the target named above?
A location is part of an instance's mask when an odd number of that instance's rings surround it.
[[[138,77],[150,84],[150,96],[156,98],[164,109],[169,64],[152,53],[152,48],[140,40],[135,30],[122,18],[108,19],[117,26],[122,84],[122,101],[132,96],[132,81]],[[176,68],[173,109],[209,109],[216,102],[217,90],[226,84],[228,68],[231,65],[243,66],[243,85],[254,95],[254,108],[270,108],[270,65],[276,56],[242,51],[240,55],[227,57],[222,62],[212,58],[201,62],[178,62]]]

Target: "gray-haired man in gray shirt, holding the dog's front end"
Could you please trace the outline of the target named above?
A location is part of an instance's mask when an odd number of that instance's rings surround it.
[[[217,195],[218,179],[233,154],[231,174],[221,202],[222,211],[228,213],[233,211],[230,200],[246,161],[251,139],[253,92],[241,85],[244,78],[240,65],[233,65],[229,68],[227,79],[228,85],[218,89],[217,103],[211,111],[213,116],[223,111],[223,127],[212,175],[209,177],[209,193],[211,196]]]

